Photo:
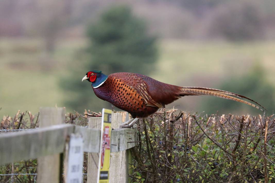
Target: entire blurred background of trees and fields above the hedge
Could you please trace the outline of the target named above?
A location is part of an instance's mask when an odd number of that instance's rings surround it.
[[[2,0],[0,116],[40,106],[99,111],[81,78],[137,72],[179,86],[203,86],[255,99],[272,114],[275,1]],[[244,104],[183,97],[186,111],[243,114]]]

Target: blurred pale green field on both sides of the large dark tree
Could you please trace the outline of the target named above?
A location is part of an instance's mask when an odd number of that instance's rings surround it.
[[[69,68],[78,67],[74,61],[83,59],[79,58],[79,50],[86,46],[84,39],[60,40],[54,54],[48,56],[43,51],[43,40],[1,38],[0,116],[13,116],[18,109],[35,114],[40,106],[63,106],[65,100],[73,98],[70,91],[62,91],[59,78],[73,73]],[[263,66],[271,83],[275,81],[274,42],[162,40],[159,47],[158,63],[149,76],[163,82],[211,88],[224,78],[241,77],[255,63]],[[201,101],[201,97],[184,97],[173,105],[196,111]]]

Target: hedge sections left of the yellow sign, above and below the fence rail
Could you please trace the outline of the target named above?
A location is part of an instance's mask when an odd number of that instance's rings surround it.
[[[89,113],[92,113],[88,111]],[[87,112],[86,112],[87,113]],[[89,115],[79,113],[66,114],[66,123],[88,128]],[[29,111],[18,111],[14,117],[4,116],[0,119],[0,134],[17,131],[29,131],[39,129],[39,113],[32,115]],[[82,183],[87,182],[87,153],[84,153]],[[14,162],[0,166],[0,182],[37,182],[37,159]]]

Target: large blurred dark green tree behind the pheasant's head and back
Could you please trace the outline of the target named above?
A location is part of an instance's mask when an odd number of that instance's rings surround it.
[[[127,6],[116,6],[104,12],[100,19],[87,28],[90,40],[87,49],[90,56],[75,63],[62,87],[70,91],[65,106],[83,111],[93,111],[111,104],[97,98],[90,83],[81,83],[81,78],[90,70],[100,70],[109,75],[114,72],[137,72],[148,74],[156,61],[156,37],[147,35],[147,26],[142,19],[136,18]],[[84,60],[83,59],[83,60]]]

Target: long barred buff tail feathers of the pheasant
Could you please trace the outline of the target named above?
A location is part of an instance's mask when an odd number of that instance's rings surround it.
[[[237,102],[245,103],[247,105],[250,105],[252,107],[260,109],[261,111],[263,111],[263,109],[265,109],[262,105],[260,105],[259,103],[255,102],[254,100],[252,100],[248,97],[245,97],[243,95],[239,95],[239,94],[236,94],[236,93],[224,91],[224,90],[214,89],[214,88],[182,87],[182,91],[181,91],[180,95],[213,95],[213,96],[216,96],[216,97],[219,97],[219,98],[225,98],[225,99],[235,100]],[[233,97],[231,95],[236,96],[236,97]],[[259,106],[255,105],[253,103],[247,102],[247,101],[242,100],[242,99],[237,98],[237,97],[245,98],[247,100],[250,100],[251,102],[255,102],[256,104],[261,106],[263,109],[261,109]]]

